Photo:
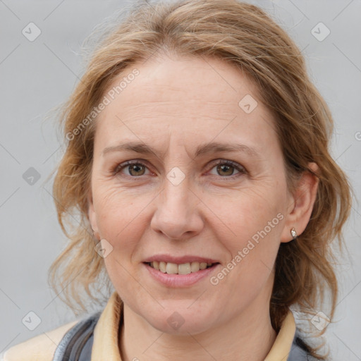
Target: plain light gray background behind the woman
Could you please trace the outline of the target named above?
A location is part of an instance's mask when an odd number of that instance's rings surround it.
[[[361,179],[361,1],[249,1],[262,6],[290,34],[336,121],[332,154],[350,177],[355,198]],[[47,270],[65,246],[45,182],[62,149],[49,111],[65,101],[82,73],[80,44],[94,25],[125,1],[0,0],[0,353],[75,319],[47,285]],[[41,34],[22,33],[33,22]],[[331,31],[312,35],[322,22]],[[320,35],[325,29],[317,30]],[[34,32],[32,32],[34,34]],[[40,179],[28,184],[30,167]],[[340,260],[341,295],[326,331],[334,360],[361,360],[361,209],[356,200],[345,227],[349,257]],[[22,323],[35,312],[34,331]]]

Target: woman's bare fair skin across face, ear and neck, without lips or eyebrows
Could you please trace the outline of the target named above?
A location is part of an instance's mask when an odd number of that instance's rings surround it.
[[[317,178],[305,173],[288,191],[275,120],[237,68],[164,56],[134,64],[109,89],[133,68],[140,75],[97,118],[88,196],[94,234],[113,247],[104,262],[124,302],[122,360],[264,360],[276,338],[269,317],[276,254],[292,240],[290,228],[300,235],[307,226]],[[246,94],[258,102],[250,114],[238,106]],[[102,154],[129,140],[154,147],[159,157]],[[195,158],[196,147],[211,141],[241,143],[257,155]],[[216,159],[234,161],[240,171],[222,170]],[[145,166],[111,174],[129,160]],[[173,167],[185,176],[178,185],[166,178]],[[280,213],[283,219],[216,286],[206,277],[169,288],[142,264],[157,253],[200,255],[219,260],[214,276]],[[173,312],[184,319],[177,330],[167,322]]]

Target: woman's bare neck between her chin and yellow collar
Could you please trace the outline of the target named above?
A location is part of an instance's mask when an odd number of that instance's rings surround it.
[[[269,298],[254,300],[241,314],[226,324],[195,335],[166,334],[124,304],[120,332],[122,361],[260,361],[269,353],[276,331],[269,317]],[[146,326],[145,326],[146,325]]]

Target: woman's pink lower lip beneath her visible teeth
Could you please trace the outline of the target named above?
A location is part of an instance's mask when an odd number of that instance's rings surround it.
[[[163,272],[159,271],[158,269],[154,269],[150,267],[149,264],[145,264],[145,267],[149,271],[149,274],[156,279],[157,281],[163,283],[165,286],[168,287],[188,287],[192,286],[193,284],[197,283],[201,279],[209,276],[216,267],[220,264],[214,264],[212,267],[206,269],[200,269],[197,272],[190,273],[190,274],[164,274]]]

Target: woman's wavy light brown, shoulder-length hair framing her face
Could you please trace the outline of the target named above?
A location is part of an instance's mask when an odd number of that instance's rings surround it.
[[[257,85],[260,101],[276,120],[290,190],[302,173],[312,172],[307,168],[310,162],[317,164],[319,170],[314,174],[319,184],[312,215],[301,235],[279,247],[269,312],[278,332],[290,306],[299,305],[301,312],[315,314],[328,290],[332,319],[338,283],[331,243],[338,238],[342,249],[341,230],[351,204],[348,179],[329,153],[334,121],[293,40],[262,9],[236,0],[137,2],[126,18],[104,32],[61,110],[59,124],[66,150],[57,167],[53,195],[68,244],[51,264],[51,287],[56,292],[61,288],[62,300],[73,310],[75,305],[85,310],[80,290],[98,301],[99,294],[90,288],[99,284],[104,259],[94,252],[87,215],[96,122],[84,126],[84,120],[118,75],[154,54],[222,59],[249,76]],[[106,275],[105,279],[109,281]],[[312,356],[326,360],[318,353],[321,346],[308,347]]]

